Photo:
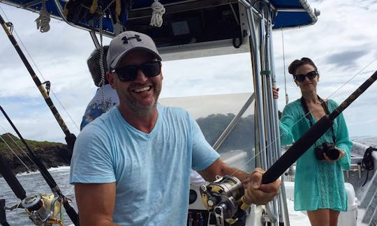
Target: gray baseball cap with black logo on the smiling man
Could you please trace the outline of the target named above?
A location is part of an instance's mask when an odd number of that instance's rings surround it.
[[[117,68],[121,59],[132,50],[145,50],[154,54],[161,61],[161,56],[151,37],[145,33],[124,31],[115,36],[110,42],[108,57],[106,58],[108,61],[108,70]]]

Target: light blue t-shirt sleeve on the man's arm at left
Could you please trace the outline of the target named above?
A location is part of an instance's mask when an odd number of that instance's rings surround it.
[[[110,139],[89,123],[77,137],[71,159],[70,183],[112,183],[116,181]]]

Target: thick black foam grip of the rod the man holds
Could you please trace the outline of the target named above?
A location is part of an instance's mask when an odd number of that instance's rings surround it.
[[[262,177],[262,183],[272,183],[281,176],[286,170],[300,158],[311,145],[313,145],[326,131],[332,126],[334,121],[325,115],[314,124],[302,137],[295,142],[286,153],[267,169]]]

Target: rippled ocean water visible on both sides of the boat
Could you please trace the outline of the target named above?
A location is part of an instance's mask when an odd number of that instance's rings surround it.
[[[367,146],[377,146],[377,137],[353,137],[351,140]],[[69,184],[69,167],[57,167],[49,169],[49,171],[59,185],[61,192],[69,199],[73,199],[74,190],[73,186]],[[51,193],[50,187],[38,172],[17,174],[17,179],[24,187],[27,195]],[[0,178],[0,199],[6,199],[6,206],[8,207],[20,202],[3,178]],[[74,206],[74,204],[71,204],[71,206]],[[34,225],[23,209],[6,211],[6,218],[11,226]],[[71,220],[68,216],[65,216],[64,225],[70,224]]]

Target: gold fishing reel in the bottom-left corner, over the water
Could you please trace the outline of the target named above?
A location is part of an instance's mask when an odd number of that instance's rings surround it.
[[[54,197],[53,194],[30,195],[24,198],[21,204],[35,225],[63,225],[61,220],[57,218],[57,215],[61,212],[59,197]]]

